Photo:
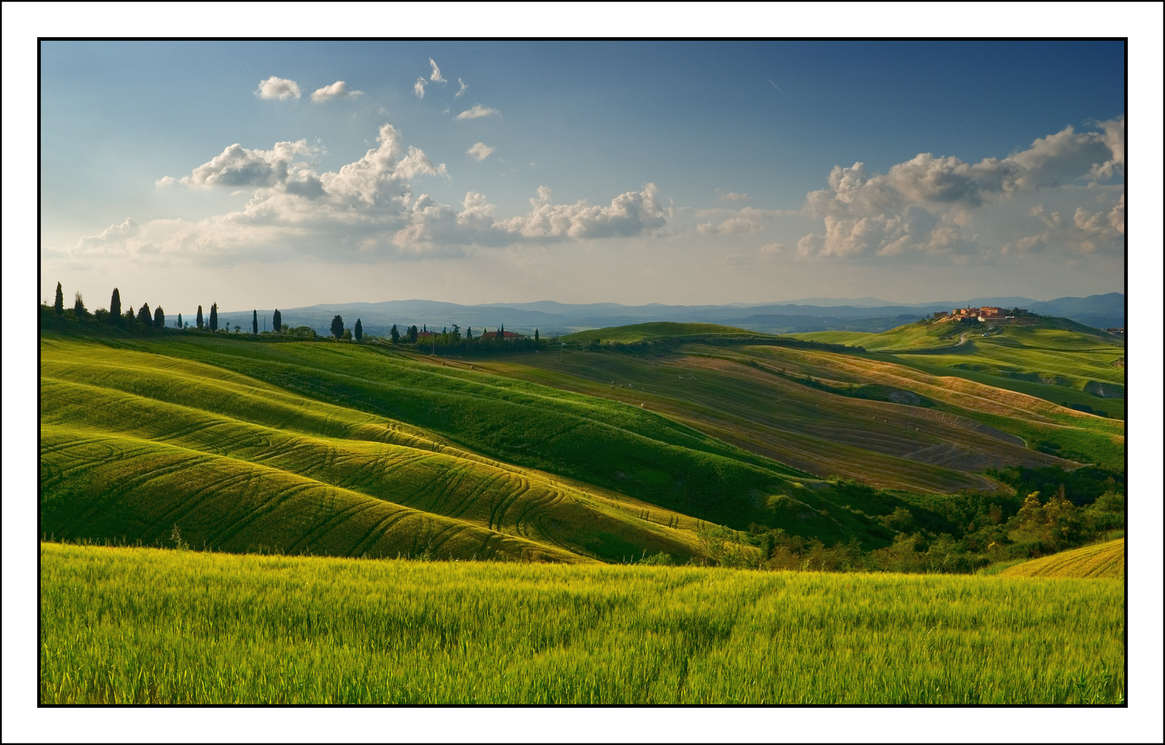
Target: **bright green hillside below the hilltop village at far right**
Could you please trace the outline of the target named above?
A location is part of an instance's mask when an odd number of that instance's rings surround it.
[[[880,334],[814,332],[793,335],[861,346],[881,354],[899,352],[902,354],[896,357],[904,364],[947,368],[949,375],[966,376],[965,370],[980,372],[1007,381],[997,383],[1003,388],[1018,384],[1015,390],[1055,403],[1088,402],[1093,409],[1117,417],[1124,412],[1124,367],[1120,364],[1125,354],[1124,345],[1067,319],[1042,319],[1033,325],[908,324]],[[917,352],[926,354],[906,354]]]

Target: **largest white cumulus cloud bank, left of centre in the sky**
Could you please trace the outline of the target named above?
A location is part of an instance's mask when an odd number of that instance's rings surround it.
[[[206,265],[230,265],[243,255],[247,261],[298,256],[366,262],[463,256],[471,247],[634,236],[666,222],[654,184],[607,205],[556,205],[543,186],[529,212],[511,218],[499,217],[496,207],[473,191],[460,205],[442,204],[428,193],[415,196],[414,182],[447,177],[445,164],[405,146],[391,125],[383,125],[376,140],[362,157],[326,172],[318,172],[311,159],[319,148],[305,140],[277,142],[268,150],[230,146],[189,176],[158,182],[243,191],[250,197],[241,210],[197,222],[153,220],[139,226],[127,220],[70,249],[52,250],[73,263],[100,255]],[[469,155],[493,151],[478,146]]]

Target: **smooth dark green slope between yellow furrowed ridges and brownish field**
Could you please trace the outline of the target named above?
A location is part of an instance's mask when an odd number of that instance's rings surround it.
[[[217,339],[90,343],[62,336],[43,340],[42,364],[75,364],[78,375],[89,379],[90,361],[100,367],[104,356],[119,352],[111,343],[147,352],[142,359],[160,360],[158,364],[197,360],[227,368],[284,392],[403,420],[430,433],[426,437],[456,442],[457,448],[494,462],[585,482],[591,492],[614,490],[629,497],[629,503],[641,501],[643,517],[654,524],[675,525],[679,520],[687,528],[693,522],[682,518],[690,516],[736,530],[754,522],[785,527],[831,545],[852,537],[870,547],[885,541],[877,531],[870,533],[870,524],[860,516],[829,515],[822,502],[828,484],[810,484],[820,490],[796,485],[795,480],[814,482],[809,474],[647,409],[489,375],[480,366],[474,370],[468,363],[450,360],[438,361],[438,366],[415,355],[356,345]],[[111,377],[134,378],[122,374]],[[234,405],[231,402],[220,413],[233,416]],[[247,402],[243,407],[249,412],[254,404]],[[782,516],[765,506],[768,497],[795,489],[805,492],[799,498],[805,510]],[[608,558],[621,555],[630,547],[620,540],[603,538],[606,553],[594,551]]]

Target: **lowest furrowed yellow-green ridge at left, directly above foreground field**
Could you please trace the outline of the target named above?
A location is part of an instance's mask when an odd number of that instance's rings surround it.
[[[71,434],[61,427],[47,426],[44,430],[43,437],[56,444]],[[401,513],[402,518],[423,517],[432,525],[450,523],[442,516],[417,512],[255,463],[114,435],[108,437],[106,444],[118,449],[144,452],[139,459],[149,457],[150,468],[127,469],[125,461],[90,463],[89,478],[84,482],[73,480],[59,489],[45,489],[43,511],[50,520],[76,515],[78,502],[91,503],[94,496],[103,503],[101,510],[90,511],[84,528],[73,531],[76,535],[127,534],[130,540],[164,540],[169,535],[170,520],[182,512],[183,537],[193,545],[207,541],[227,551],[246,551],[257,545],[292,547],[304,535],[299,526],[323,525],[325,532],[316,537],[317,547],[323,553],[350,555],[369,531],[395,513]],[[44,457],[61,459],[65,453],[58,448]],[[71,457],[76,459],[77,454]],[[89,494],[91,488],[96,488],[97,495]],[[343,518],[334,519],[338,515]],[[474,539],[464,541],[464,546],[450,546],[454,555],[468,558],[480,549],[490,533],[468,524],[453,525],[459,528],[458,533],[474,533]],[[411,531],[381,533],[375,545],[384,552],[393,547],[408,548],[414,538]],[[514,555],[525,549],[548,560],[580,559],[531,541],[510,541],[503,546]]]

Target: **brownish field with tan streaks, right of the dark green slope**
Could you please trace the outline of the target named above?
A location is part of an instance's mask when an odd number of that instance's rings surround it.
[[[991,489],[996,484],[976,473],[988,466],[1072,467],[1008,434],[1012,419],[1026,427],[1047,423],[1044,430],[1055,435],[1067,428],[1055,423],[1053,414],[1065,423],[1101,423],[1123,432],[1120,421],[961,378],[941,381],[889,361],[763,345],[693,345],[680,352],[689,354],[642,359],[567,352],[489,361],[479,367],[591,396],[644,404],[696,430],[819,477],[855,477],[906,491]],[[855,398],[807,385],[806,375],[818,382],[836,382],[839,390],[850,382],[876,383],[884,386],[888,397],[902,393],[902,400],[930,399],[932,405]],[[949,385],[967,390],[951,390]],[[988,413],[997,414],[991,426],[982,421]],[[1037,424],[1023,424],[1024,418]],[[1085,434],[1109,447],[1116,447],[1110,442],[1116,438],[1123,447],[1120,435]]]

